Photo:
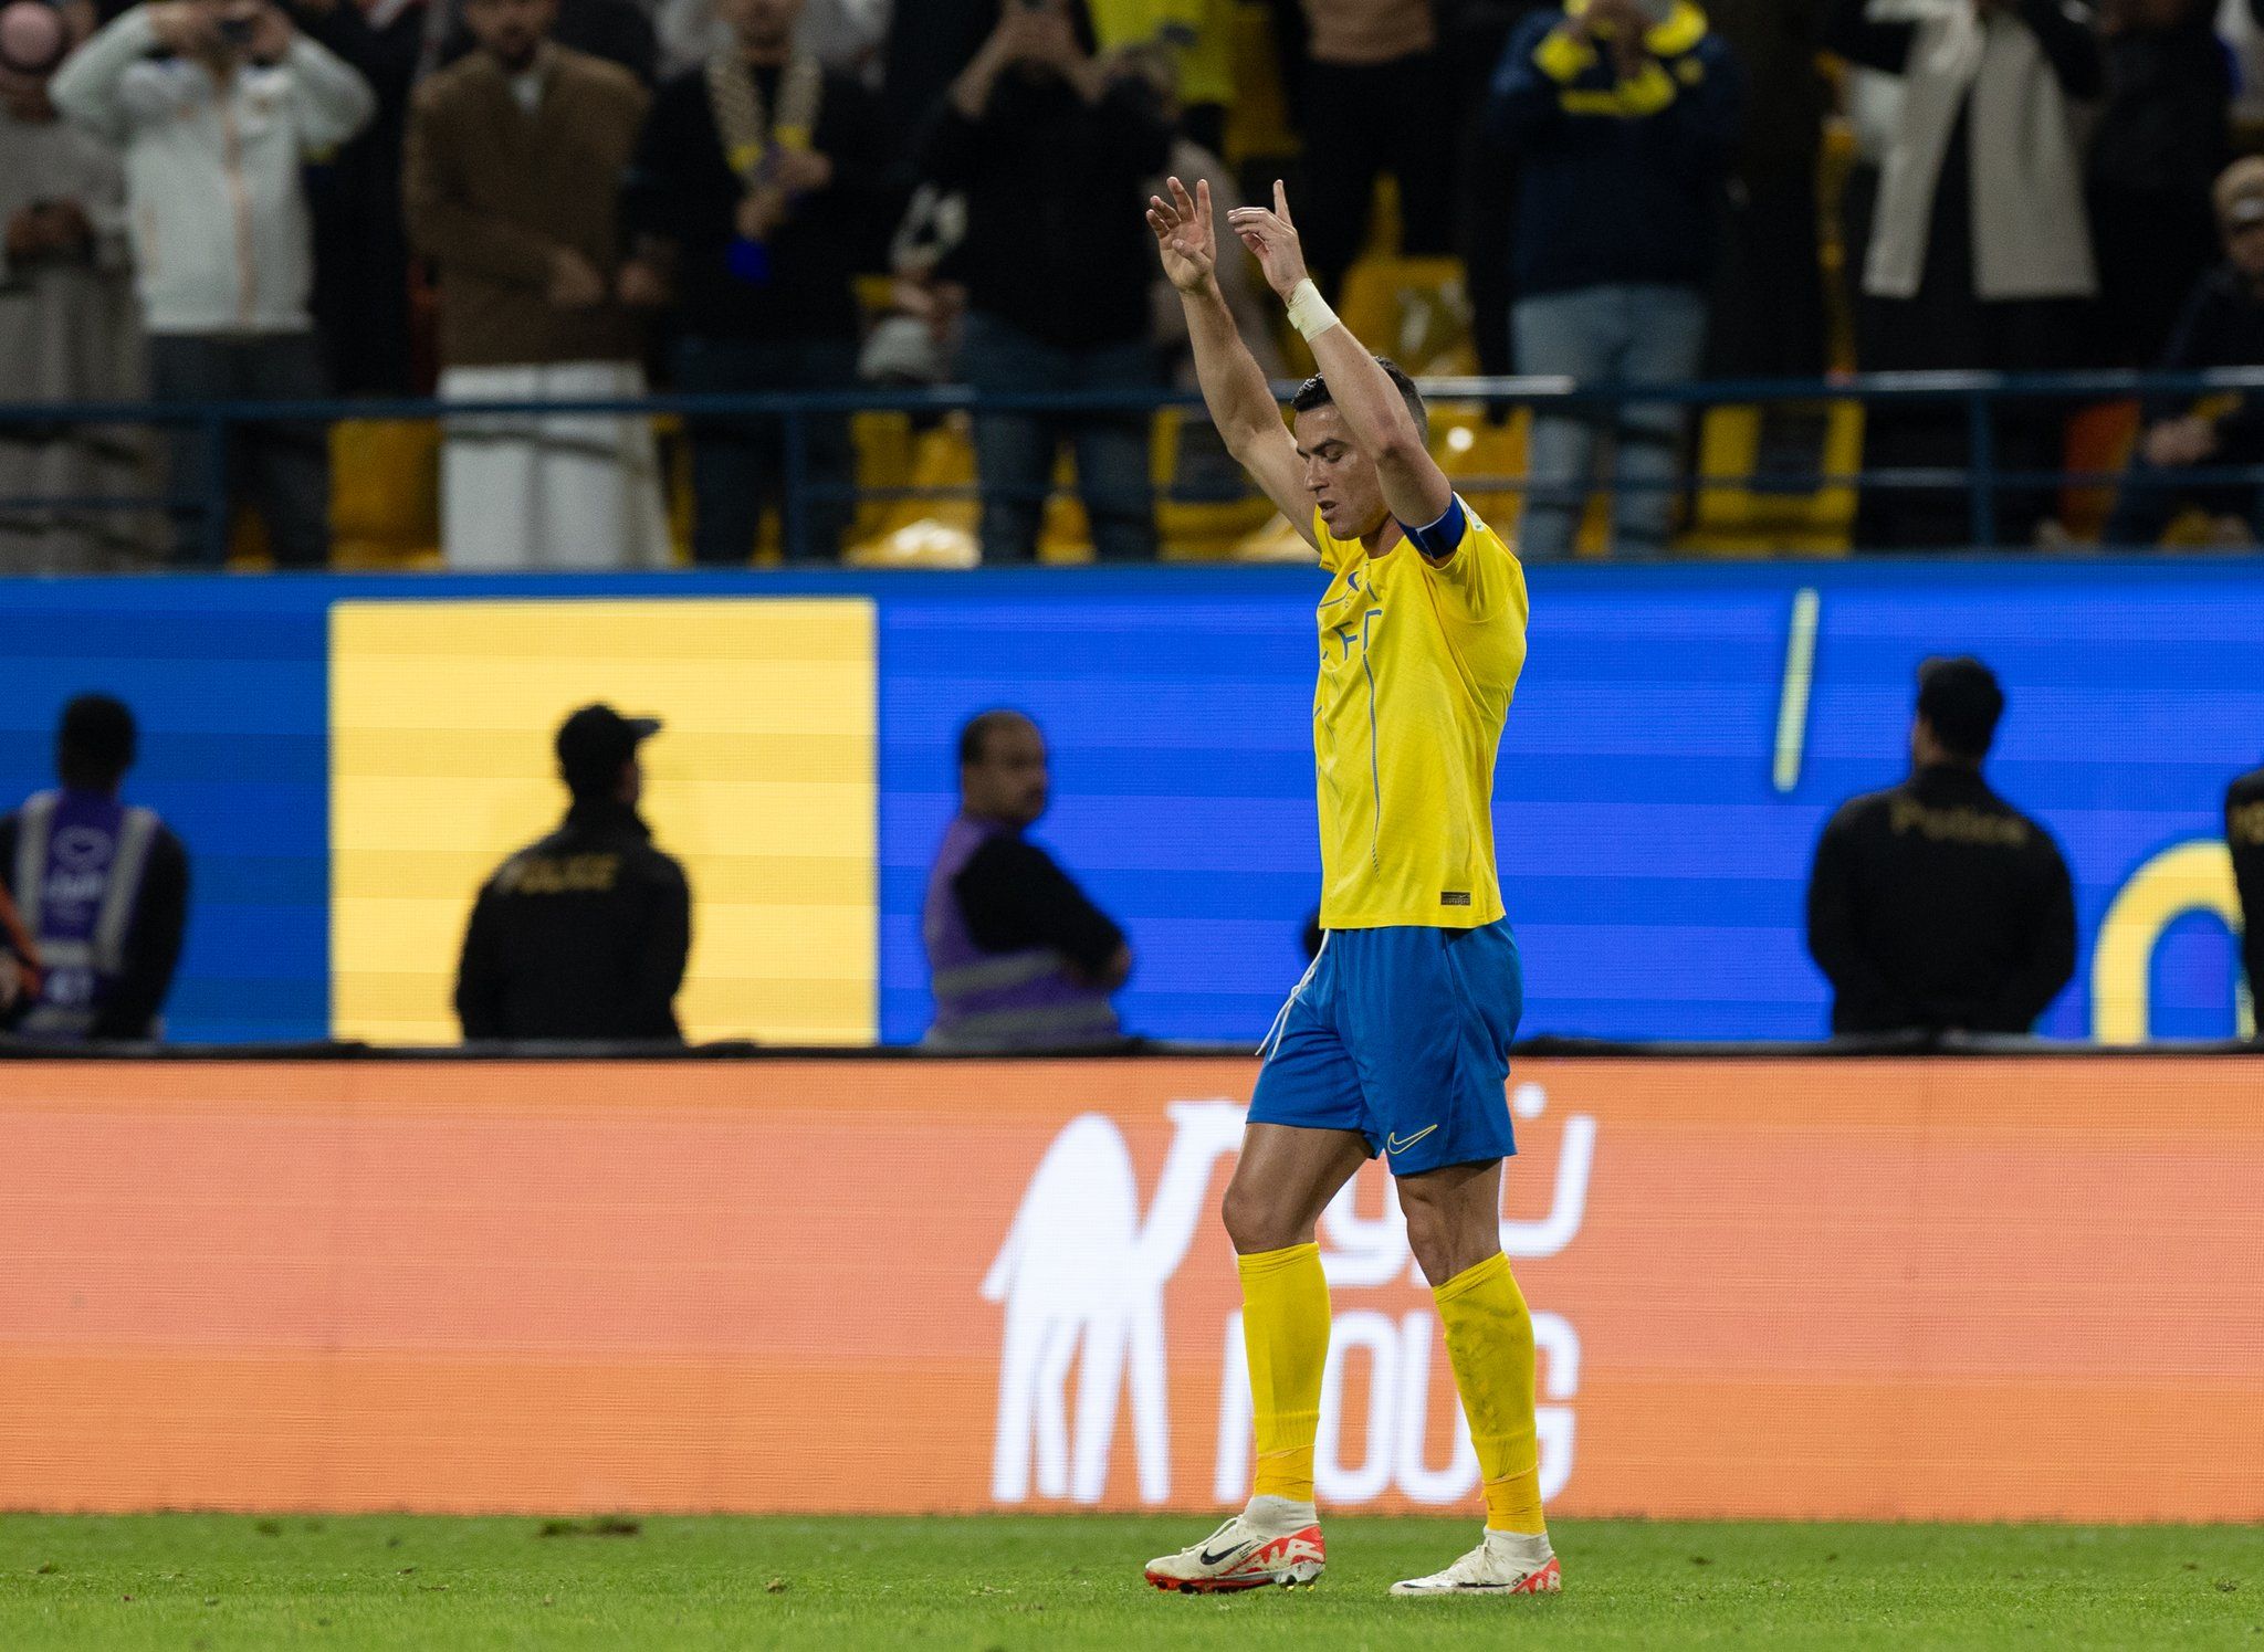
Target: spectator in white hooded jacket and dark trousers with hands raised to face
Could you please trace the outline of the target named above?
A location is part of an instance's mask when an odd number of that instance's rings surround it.
[[[161,0],[95,34],[48,86],[54,106],[125,156],[136,290],[156,401],[303,401],[326,389],[308,296],[308,156],[376,109],[369,84],[267,0]],[[174,437],[174,489],[206,475],[204,434]],[[224,455],[281,566],[331,550],[331,457],[319,425],[245,425]],[[222,541],[199,500],[174,559]]]

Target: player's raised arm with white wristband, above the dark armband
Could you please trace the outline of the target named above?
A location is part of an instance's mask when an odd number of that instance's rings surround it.
[[[1453,484],[1424,446],[1422,428],[1399,396],[1399,387],[1392,385],[1367,346],[1352,337],[1352,328],[1322,303],[1311,276],[1306,276],[1304,247],[1297,242],[1297,226],[1288,215],[1288,190],[1275,179],[1272,210],[1236,206],[1227,213],[1227,222],[1257,253],[1266,285],[1281,294],[1290,321],[1313,346],[1313,362],[1329,382],[1329,398],[1345,416],[1345,430],[1354,446],[1377,464],[1383,505],[1410,532],[1435,523],[1453,505]]]

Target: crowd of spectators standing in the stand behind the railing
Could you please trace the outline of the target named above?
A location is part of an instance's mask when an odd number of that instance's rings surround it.
[[[1286,174],[1329,296],[1395,222],[1397,256],[1458,260],[1487,373],[2253,367],[2264,161],[2235,158],[2219,23],[2203,0],[7,0],[5,401],[484,403],[446,421],[448,566],[614,568],[672,557],[650,389],[1071,398],[974,421],[983,557],[1037,554],[1066,457],[1096,557],[1146,559],[1139,403],[1184,382],[1141,224],[1161,177],[1225,213]],[[1236,274],[1259,360],[1293,364],[1247,299]],[[1662,552],[1684,414],[1544,407],[1524,552],[1573,550],[1598,475],[1612,550]],[[1997,464],[2060,471],[2067,414],[1999,405]],[[2253,539],[2257,489],[2223,471],[2264,459],[2259,428],[2237,396],[2146,403],[2108,536],[2198,507]],[[220,489],[278,566],[324,566],[326,430],[213,430],[0,425],[0,563],[208,566]],[[847,414],[684,434],[695,561],[747,563],[790,466],[781,554],[840,554]],[[1970,441],[1961,407],[1881,405],[1866,466]],[[145,496],[172,516],[120,509]],[[2067,536],[2033,482],[1997,518]],[[1877,489],[1854,536],[1958,545],[1970,516]]]

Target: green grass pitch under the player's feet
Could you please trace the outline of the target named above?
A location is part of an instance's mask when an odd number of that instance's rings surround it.
[[[607,1532],[602,1528],[625,1530]],[[1474,1521],[1329,1521],[1315,1589],[1164,1595],[1200,1518],[0,1516],[0,1647],[2248,1647],[2264,1530],[1564,1521],[1555,1600],[1386,1600]]]

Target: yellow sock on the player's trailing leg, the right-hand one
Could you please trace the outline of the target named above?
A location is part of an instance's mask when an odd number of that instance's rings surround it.
[[[1540,1439],[1533,1432],[1533,1315],[1494,1251],[1433,1288],[1447,1328],[1453,1385],[1469,1417],[1485,1478],[1485,1530],[1546,1532],[1542,1518]]]

